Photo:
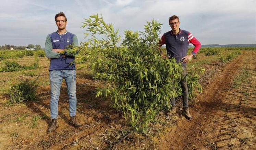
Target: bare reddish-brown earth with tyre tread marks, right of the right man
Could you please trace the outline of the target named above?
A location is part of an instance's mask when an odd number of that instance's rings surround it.
[[[234,78],[248,70],[251,82],[232,87]],[[246,97],[241,89],[252,94]],[[159,149],[256,149],[255,100],[255,52],[245,51],[216,74],[190,107],[193,120],[178,120]]]

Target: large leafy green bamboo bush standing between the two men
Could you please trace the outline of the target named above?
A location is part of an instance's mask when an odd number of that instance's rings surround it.
[[[98,87],[96,97],[110,96],[113,107],[145,132],[156,114],[171,109],[171,97],[181,95],[181,65],[174,58],[163,59],[158,51],[161,24],[153,20],[144,25],[144,32],[126,30],[121,45],[118,31],[102,16],[92,15],[84,24],[92,38],[80,47],[84,55],[78,55],[77,61],[90,63],[95,78],[105,81],[107,87]],[[97,34],[105,38],[97,39]]]

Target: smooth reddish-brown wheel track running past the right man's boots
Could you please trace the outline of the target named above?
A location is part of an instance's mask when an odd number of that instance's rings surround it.
[[[227,112],[229,115],[223,113],[224,108],[228,108],[232,101],[223,99],[243,65],[241,62],[244,62],[245,53],[248,52],[244,51],[217,73],[214,81],[197,97],[198,102],[190,105],[192,121],[182,116],[177,126],[160,142],[159,149],[218,149],[232,147],[233,143],[239,142],[234,132],[237,131],[235,121],[241,115],[236,108],[230,109]],[[255,53],[251,57],[251,60],[255,60]]]

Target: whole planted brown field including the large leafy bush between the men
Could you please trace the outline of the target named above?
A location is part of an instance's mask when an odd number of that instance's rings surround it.
[[[47,133],[50,61],[43,50],[0,51],[0,149],[256,148],[255,47],[204,47],[188,62],[188,121],[181,99],[178,112],[167,113],[170,97],[181,97],[182,77],[180,66],[156,51],[159,23],[125,31],[123,47],[115,46],[120,37],[101,18],[84,24],[107,38],[75,47],[76,116],[83,126],[68,122],[63,80],[59,127]]]

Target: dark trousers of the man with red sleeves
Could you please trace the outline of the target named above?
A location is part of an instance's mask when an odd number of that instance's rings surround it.
[[[186,66],[182,66],[182,76],[184,77],[181,79],[181,90],[182,90],[182,102],[183,107],[188,107],[188,88],[187,88],[187,79],[186,79],[187,71]],[[171,98],[171,104],[173,107],[175,107],[175,97]]]

